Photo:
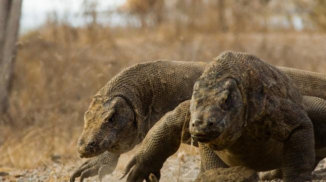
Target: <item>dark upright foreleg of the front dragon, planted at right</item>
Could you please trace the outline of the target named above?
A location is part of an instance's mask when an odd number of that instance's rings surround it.
[[[276,119],[281,119],[287,124],[300,121],[301,124],[296,128],[290,136],[284,138],[282,136],[284,128],[277,128],[275,137],[279,137],[283,143],[282,157],[282,176],[285,182],[303,182],[312,181],[312,172],[315,165],[314,150],[314,128],[313,123],[304,111],[300,111],[299,107],[288,99],[281,100],[281,108],[275,108],[271,115]],[[282,111],[289,111],[284,112]]]

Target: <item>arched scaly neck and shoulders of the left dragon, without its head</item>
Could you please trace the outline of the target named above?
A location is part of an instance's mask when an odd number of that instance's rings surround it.
[[[193,85],[205,66],[167,60],[136,64],[112,78],[94,97],[103,104],[116,96],[125,98],[135,112],[141,141],[166,112],[191,98]]]

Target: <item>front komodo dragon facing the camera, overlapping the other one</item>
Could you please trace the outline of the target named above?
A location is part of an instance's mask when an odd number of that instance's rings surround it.
[[[311,181],[315,148],[326,147],[325,83],[315,83],[322,89],[319,95],[302,97],[296,81],[281,70],[248,53],[222,53],[196,82],[192,99],[148,132],[126,167],[124,175],[134,167],[127,182],[148,180],[151,173],[159,179],[163,163],[190,135],[200,142],[203,171],[282,168],[286,182]],[[316,157],[318,162],[326,154]]]

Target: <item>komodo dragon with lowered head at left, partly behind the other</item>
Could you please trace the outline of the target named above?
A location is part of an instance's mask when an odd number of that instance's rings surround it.
[[[168,111],[191,98],[193,85],[207,63],[159,60],[131,66],[111,79],[85,113],[78,141],[81,157],[92,157],[73,172],[70,181],[114,171],[120,154],[140,143],[148,130]],[[303,95],[326,97],[322,74],[280,69],[293,79]],[[95,156],[95,157],[94,157]]]

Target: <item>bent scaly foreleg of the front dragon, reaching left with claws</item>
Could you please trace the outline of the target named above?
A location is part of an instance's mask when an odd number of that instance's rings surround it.
[[[164,115],[147,133],[137,154],[129,162],[124,175],[127,182],[143,182],[153,173],[160,178],[160,170],[168,157],[180,147],[184,138],[189,139],[190,100],[180,103],[173,111]]]

